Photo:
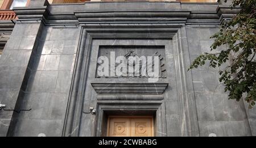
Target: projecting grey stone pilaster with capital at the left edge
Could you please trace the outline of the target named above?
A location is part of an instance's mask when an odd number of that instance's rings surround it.
[[[31,0],[30,7],[39,7],[44,13],[43,7],[46,1]],[[42,6],[42,7],[40,7]],[[15,10],[14,10],[15,11]],[[22,11],[22,12],[21,12]],[[13,32],[7,41],[3,54],[0,58],[0,103],[6,104],[6,109],[23,109],[19,107],[19,98],[23,98],[23,88],[26,87],[28,76],[30,75],[30,63],[32,64],[32,53],[36,50],[37,41],[43,31],[43,23],[38,18],[39,12],[29,11],[28,7],[20,8],[15,13],[19,17],[24,11],[27,14],[26,20],[17,20]],[[37,16],[37,20],[33,20]],[[42,14],[43,16],[43,14]],[[22,99],[21,99],[22,100]],[[14,119],[15,112],[0,111],[0,136],[7,136],[10,123]]]

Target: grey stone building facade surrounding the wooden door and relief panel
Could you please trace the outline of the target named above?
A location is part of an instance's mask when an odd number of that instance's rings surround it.
[[[105,136],[106,116],[117,114],[154,115],[156,136],[256,136],[256,110],[227,99],[218,69],[187,71],[238,9],[218,3],[31,0],[14,11],[19,20],[0,58],[0,103],[32,110],[0,111],[0,136]],[[163,46],[167,77],[153,84],[164,92],[148,92],[144,78],[96,78],[102,46],[142,46],[144,52]],[[96,115],[82,113],[89,107]]]

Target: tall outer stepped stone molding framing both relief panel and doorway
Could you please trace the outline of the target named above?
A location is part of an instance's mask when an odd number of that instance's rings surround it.
[[[63,136],[79,136],[86,75],[92,41],[95,39],[169,39],[174,44],[177,94],[182,120],[181,136],[199,136],[196,116],[195,95],[192,74],[187,72],[189,61],[188,45],[184,26],[130,26],[123,27],[81,27],[75,71],[69,94]]]

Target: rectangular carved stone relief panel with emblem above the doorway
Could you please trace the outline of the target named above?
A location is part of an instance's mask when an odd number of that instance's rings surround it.
[[[101,45],[99,47],[96,78],[166,78],[166,75],[164,46]]]

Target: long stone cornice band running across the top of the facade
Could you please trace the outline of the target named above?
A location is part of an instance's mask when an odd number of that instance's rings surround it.
[[[154,3],[145,2],[145,7],[139,9],[136,5],[123,8],[124,3],[114,3],[110,10],[109,3],[84,3],[72,5],[46,5],[36,7],[15,7],[14,12],[20,20],[43,20],[47,25],[79,25],[79,24],[117,24],[117,23],[177,23],[177,24],[220,24],[223,19],[232,18],[240,9],[230,9],[226,5],[203,4],[217,7],[216,10],[188,10],[181,6],[193,4],[165,3],[162,8]],[[133,2],[133,4],[136,2]],[[159,2],[160,3],[160,2]],[[120,5],[120,7],[119,7]],[[139,2],[142,6],[143,2]],[[173,7],[171,7],[174,5]],[[76,7],[77,6],[77,7]],[[92,9],[92,7],[96,9]],[[121,7],[122,6],[122,7]],[[134,6],[134,7],[131,7]],[[161,5],[162,6],[162,5]],[[163,5],[165,6],[165,5]],[[68,10],[62,10],[68,9]],[[102,9],[100,9],[102,7]],[[147,9],[148,7],[148,9]],[[169,9],[170,7],[170,9]],[[189,8],[189,7],[188,7]]]

